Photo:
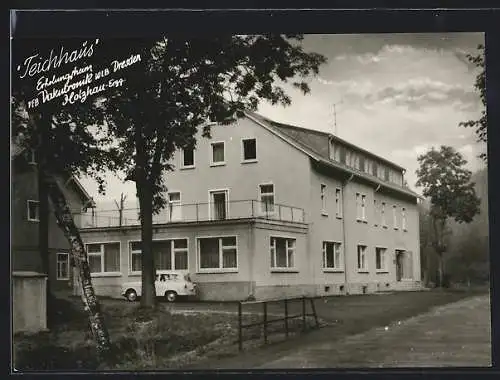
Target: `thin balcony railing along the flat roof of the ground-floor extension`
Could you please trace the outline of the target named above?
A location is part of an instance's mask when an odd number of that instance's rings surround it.
[[[80,228],[136,226],[140,224],[139,209],[124,209],[120,222],[118,210],[100,210],[75,213],[75,222]],[[153,224],[176,222],[203,222],[244,218],[260,218],[285,222],[305,222],[302,208],[256,200],[175,204],[169,203],[158,215],[153,215]]]

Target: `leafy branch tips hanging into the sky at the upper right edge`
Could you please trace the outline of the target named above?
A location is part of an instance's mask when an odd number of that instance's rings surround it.
[[[486,118],[486,72],[484,60],[484,45],[479,45],[478,50],[479,52],[476,55],[468,54],[467,59],[479,69],[479,73],[477,74],[476,81],[474,83],[474,88],[479,92],[481,103],[483,104],[483,109],[481,111],[481,117],[478,120],[464,121],[460,123],[460,126],[466,128],[475,128],[478,141],[487,142],[488,119]],[[481,153],[480,157],[485,161],[487,160],[486,153]]]

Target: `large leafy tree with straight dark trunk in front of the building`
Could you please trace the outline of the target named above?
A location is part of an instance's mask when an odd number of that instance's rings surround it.
[[[301,35],[169,35],[155,40],[108,41],[110,59],[140,54],[123,86],[102,106],[119,162],[136,182],[142,240],[143,306],[154,305],[152,213],[165,206],[165,172],[179,148],[194,148],[198,129],[229,124],[261,100],[289,105],[283,83],[302,93],[306,77],[326,58],[306,53]],[[121,58],[120,58],[121,57]]]

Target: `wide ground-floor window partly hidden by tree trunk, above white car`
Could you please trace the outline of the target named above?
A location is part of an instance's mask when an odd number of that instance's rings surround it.
[[[141,242],[130,243],[130,271],[141,271]],[[153,256],[156,270],[187,270],[187,239],[154,240]]]

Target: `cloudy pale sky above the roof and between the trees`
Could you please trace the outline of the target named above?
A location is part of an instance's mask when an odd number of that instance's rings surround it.
[[[260,114],[336,133],[406,168],[405,178],[417,192],[417,156],[431,147],[450,145],[463,154],[468,169],[484,167],[477,156],[485,144],[476,142],[473,129],[459,127],[482,109],[474,90],[477,69],[466,54],[477,52],[483,33],[306,35],[302,43],[305,51],[328,59],[319,75],[307,80],[311,92],[303,95],[285,84],[292,104],[262,103]],[[135,202],[135,183],[111,174],[107,180],[104,196],[97,195],[92,180],[81,181],[98,207],[113,204],[122,192]]]

